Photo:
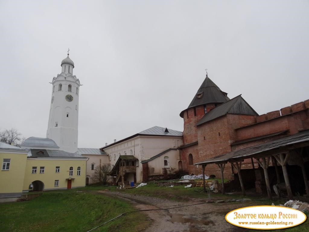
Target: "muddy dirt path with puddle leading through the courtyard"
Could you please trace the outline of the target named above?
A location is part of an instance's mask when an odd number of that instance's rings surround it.
[[[241,208],[246,204],[239,203],[205,203],[205,200],[193,199],[188,202],[176,202],[156,197],[130,195],[120,192],[99,191],[100,193],[117,196],[132,202],[137,209],[163,209],[145,211],[151,220],[151,226],[145,232],[240,232],[246,231],[240,227],[233,226],[225,221],[225,213]],[[200,204],[205,203],[205,204]],[[186,206],[197,204],[192,206]],[[174,208],[185,206],[181,208]],[[248,229],[247,229],[248,231]]]

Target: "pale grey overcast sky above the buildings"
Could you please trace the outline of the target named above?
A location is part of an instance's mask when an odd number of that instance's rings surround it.
[[[179,113],[208,76],[264,114],[309,98],[309,1],[0,0],[0,128],[45,137],[54,76],[74,61],[78,147]]]

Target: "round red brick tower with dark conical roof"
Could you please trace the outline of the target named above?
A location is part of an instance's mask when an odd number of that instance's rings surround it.
[[[211,79],[209,79],[208,75],[206,75],[205,80],[188,108],[181,111],[180,117],[184,118],[182,159],[185,171],[189,170],[188,165],[193,165],[194,157],[198,155],[197,122],[211,109],[228,100],[230,99],[227,97],[227,93],[223,92]]]

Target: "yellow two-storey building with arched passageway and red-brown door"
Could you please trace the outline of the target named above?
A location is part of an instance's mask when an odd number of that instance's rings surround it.
[[[30,149],[23,192],[85,187],[87,158],[62,150]]]

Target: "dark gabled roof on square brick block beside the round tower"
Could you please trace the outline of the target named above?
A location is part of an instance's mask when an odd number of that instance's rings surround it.
[[[210,110],[197,122],[197,126],[226,114],[258,115],[241,95],[239,95]]]

